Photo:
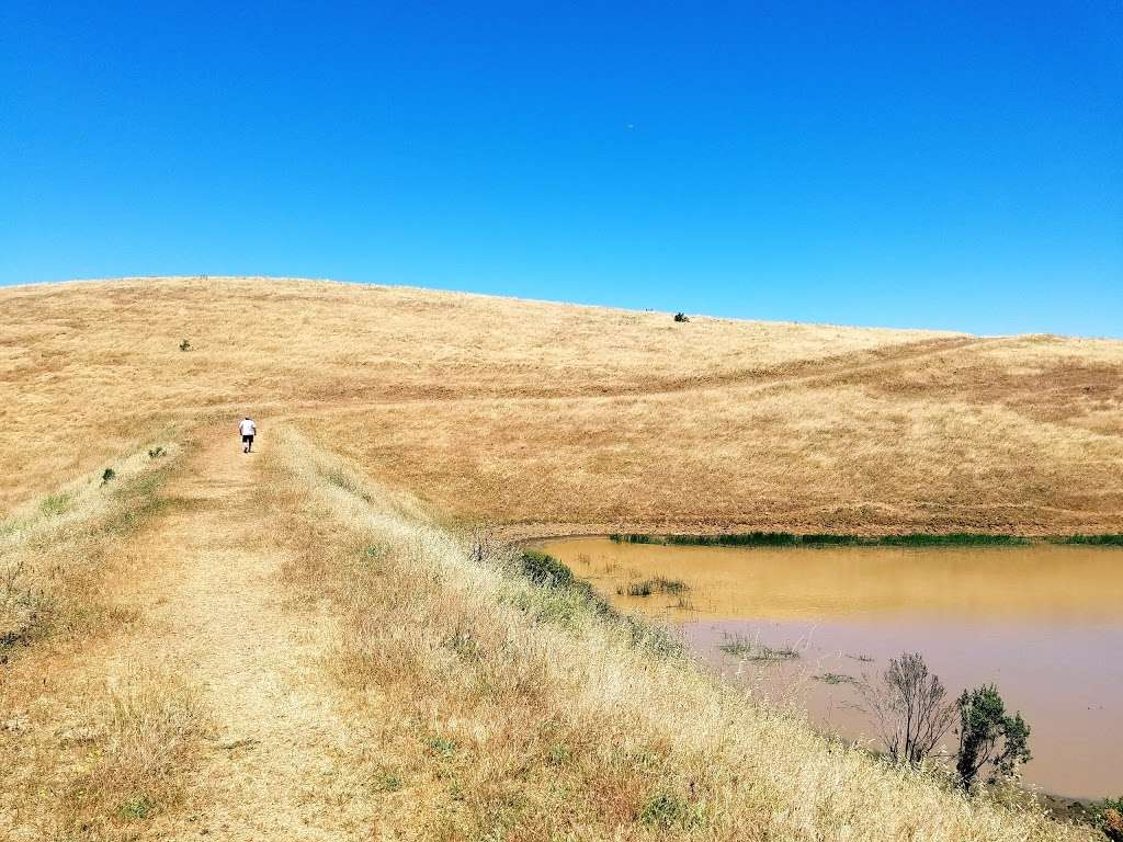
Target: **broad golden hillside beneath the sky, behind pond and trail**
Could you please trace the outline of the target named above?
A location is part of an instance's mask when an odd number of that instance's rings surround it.
[[[7,509],[249,412],[522,533],[1123,524],[1123,341],[262,278],[12,287],[0,312]]]

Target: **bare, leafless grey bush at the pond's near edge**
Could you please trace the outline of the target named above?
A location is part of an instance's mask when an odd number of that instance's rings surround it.
[[[864,678],[859,689],[895,762],[920,763],[951,726],[956,706],[919,652],[891,659],[880,681]]]

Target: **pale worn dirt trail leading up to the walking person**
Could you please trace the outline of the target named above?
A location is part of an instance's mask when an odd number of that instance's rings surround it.
[[[133,595],[152,629],[140,655],[179,665],[214,723],[191,786],[199,812],[157,821],[153,835],[354,839],[371,824],[369,799],[355,797],[371,742],[340,717],[326,683],[335,629],[316,606],[285,608],[284,550],[254,500],[259,457],[223,432],[170,483],[168,494],[194,504],[149,530],[144,550],[161,569]]]

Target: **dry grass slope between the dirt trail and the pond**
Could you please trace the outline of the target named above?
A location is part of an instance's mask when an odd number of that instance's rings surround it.
[[[815,734],[657,630],[542,587],[295,432],[267,500],[289,584],[329,598],[326,668],[385,726],[385,821],[428,839],[1081,839],[1029,799],[968,798]],[[418,805],[423,805],[419,807]],[[421,827],[417,827],[421,823]]]

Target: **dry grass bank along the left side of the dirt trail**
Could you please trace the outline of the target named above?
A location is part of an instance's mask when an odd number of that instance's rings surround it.
[[[0,523],[0,839],[135,839],[183,798],[198,692],[158,657],[118,679],[103,665],[139,620],[113,568],[180,504],[163,485],[181,451],[147,442],[110,460],[112,479],[80,477]]]

